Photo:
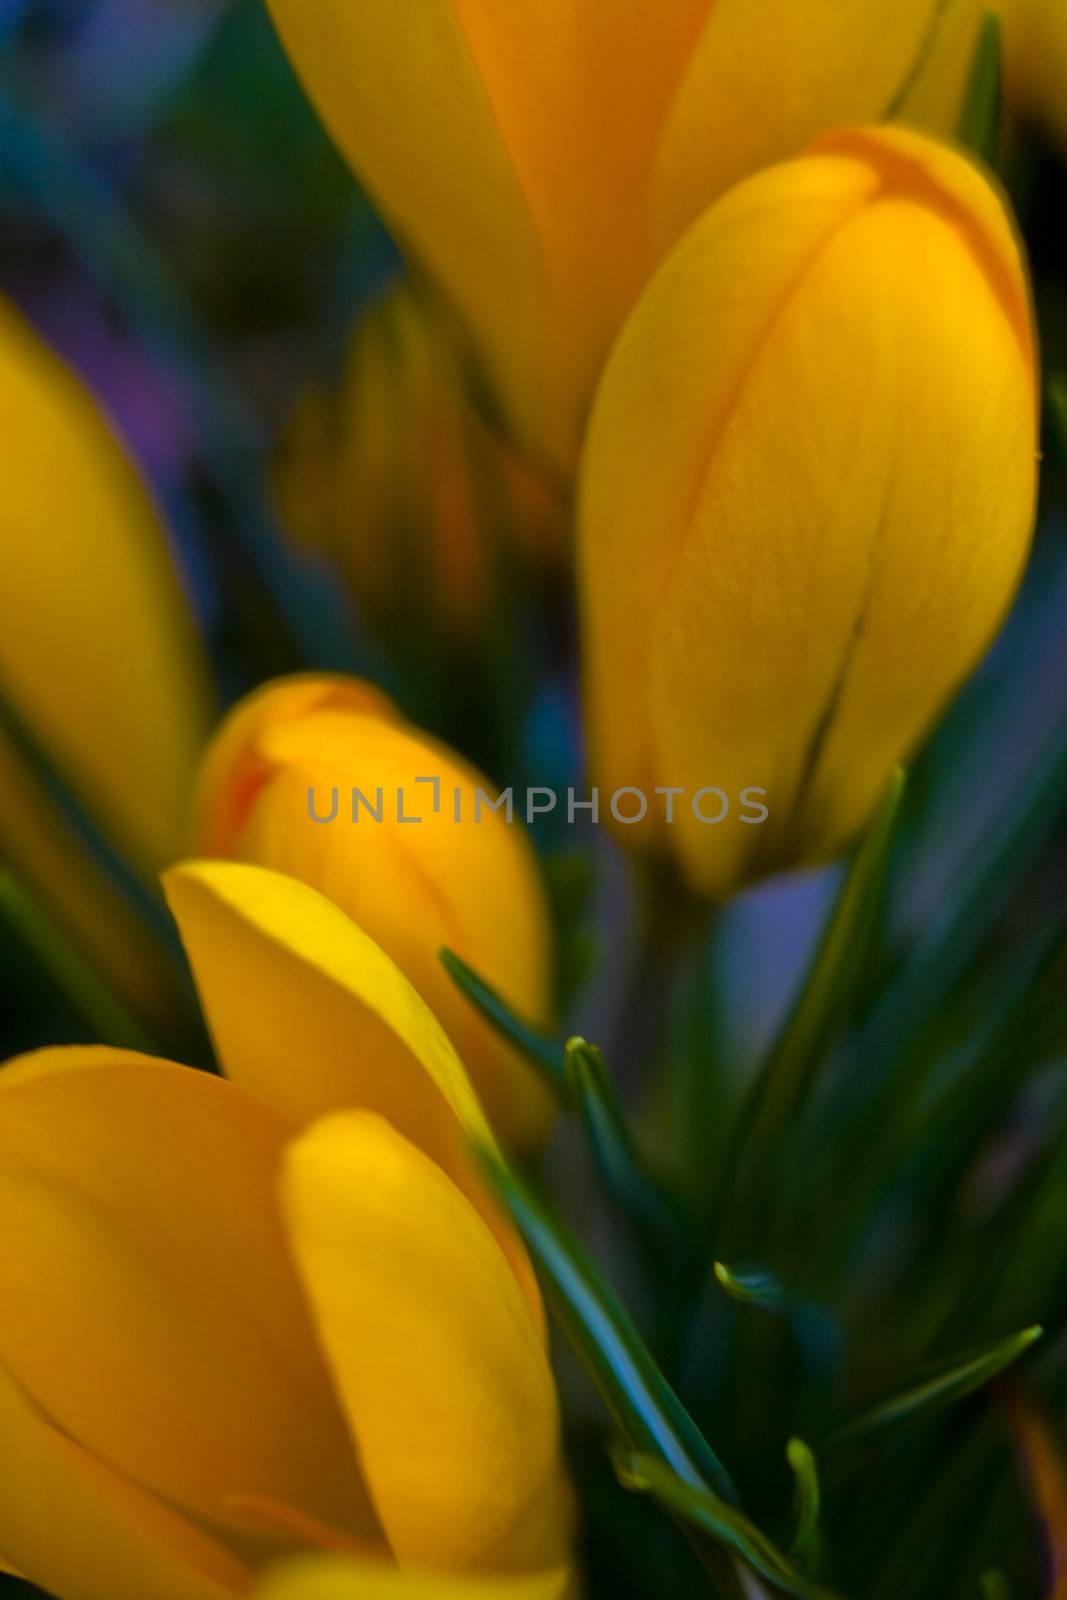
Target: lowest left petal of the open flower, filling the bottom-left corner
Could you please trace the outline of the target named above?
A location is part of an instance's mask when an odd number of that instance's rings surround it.
[[[70,1347],[67,1355],[72,1354]],[[0,1562],[62,1600],[222,1600],[248,1573],[202,1533],[58,1432],[0,1365]]]

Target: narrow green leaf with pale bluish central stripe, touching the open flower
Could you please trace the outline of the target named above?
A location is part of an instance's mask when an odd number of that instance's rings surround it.
[[[630,1314],[566,1224],[498,1157],[475,1150],[539,1267],[545,1296],[574,1354],[635,1450],[653,1451],[694,1486],[736,1491],[726,1469],[653,1360]]]

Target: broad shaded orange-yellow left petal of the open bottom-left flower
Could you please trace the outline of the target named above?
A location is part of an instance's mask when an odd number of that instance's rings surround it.
[[[373,1518],[278,1227],[286,1134],[242,1090],[142,1056],[5,1067],[0,1362],[70,1440],[218,1528],[243,1531],[246,1496],[360,1536]]]

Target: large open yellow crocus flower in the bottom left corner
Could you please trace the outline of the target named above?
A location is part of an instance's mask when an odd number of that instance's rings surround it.
[[[306,885],[168,891],[229,1082],[0,1075],[3,1562],[59,1600],[222,1600],[301,1550],[561,1568],[541,1301],[448,1040]]]

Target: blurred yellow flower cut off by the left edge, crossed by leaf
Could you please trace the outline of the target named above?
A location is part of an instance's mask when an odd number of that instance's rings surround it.
[[[0,693],[142,872],[181,850],[208,672],[152,499],[94,400],[0,299]],[[0,843],[123,984],[136,939],[0,741]]]

